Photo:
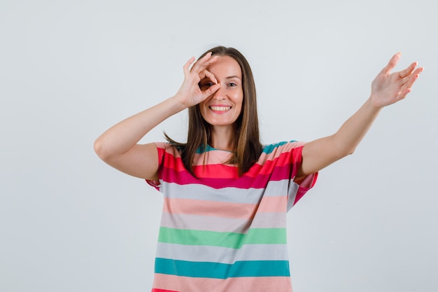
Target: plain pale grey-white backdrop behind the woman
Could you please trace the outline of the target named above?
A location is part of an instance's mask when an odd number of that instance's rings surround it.
[[[390,57],[425,71],[290,212],[295,292],[436,291],[438,2],[0,1],[0,291],[150,291],[162,195],[92,144],[218,44],[253,67],[263,143],[332,134]],[[159,125],[183,141],[183,112]]]

